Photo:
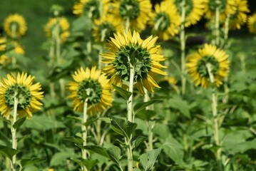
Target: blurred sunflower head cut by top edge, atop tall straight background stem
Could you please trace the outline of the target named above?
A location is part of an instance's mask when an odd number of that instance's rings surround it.
[[[170,1],[170,0],[168,0]],[[181,16],[180,0],[171,0]],[[205,13],[207,0],[185,0],[185,27],[195,25]]]

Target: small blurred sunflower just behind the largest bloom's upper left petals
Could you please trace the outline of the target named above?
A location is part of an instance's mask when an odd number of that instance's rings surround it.
[[[93,36],[98,42],[106,42],[113,33],[123,30],[121,21],[115,19],[113,15],[108,14],[101,17],[101,19],[94,20]]]

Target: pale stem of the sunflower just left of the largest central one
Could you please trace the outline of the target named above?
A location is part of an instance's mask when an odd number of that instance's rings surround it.
[[[88,108],[88,98],[83,103],[83,120],[82,120],[82,136],[83,136],[83,146],[87,145],[87,128],[86,125],[84,125],[87,122],[87,108]],[[82,158],[87,159],[87,151],[85,149],[82,149]],[[86,166],[82,166],[81,168],[83,171],[87,171]]]

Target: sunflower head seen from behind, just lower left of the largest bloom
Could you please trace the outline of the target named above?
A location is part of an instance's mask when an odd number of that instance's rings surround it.
[[[91,70],[86,68],[86,71],[81,67],[72,77],[74,81],[68,84],[68,90],[71,91],[68,98],[73,99],[73,110],[83,112],[83,103],[86,99],[87,112],[91,115],[111,106],[111,86],[106,76],[103,76],[100,70],[96,70],[95,66]]]

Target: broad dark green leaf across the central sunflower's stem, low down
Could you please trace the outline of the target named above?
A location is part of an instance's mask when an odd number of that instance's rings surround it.
[[[129,139],[130,135],[133,133],[137,123],[131,123],[128,120],[123,120],[119,118],[112,118],[111,128],[116,133],[123,135],[125,138]]]

